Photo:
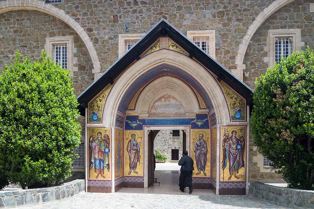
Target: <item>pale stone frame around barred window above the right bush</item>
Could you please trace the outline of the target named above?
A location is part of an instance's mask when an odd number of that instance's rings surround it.
[[[300,47],[303,42],[301,42],[301,30],[300,29],[277,29],[277,30],[269,30],[268,31],[268,48],[266,47],[266,50],[268,50],[268,67],[272,67],[275,65],[275,42],[276,38],[279,37],[290,37],[292,39],[292,52],[293,51],[300,51]],[[265,62],[267,60],[264,59]]]

